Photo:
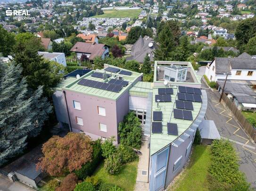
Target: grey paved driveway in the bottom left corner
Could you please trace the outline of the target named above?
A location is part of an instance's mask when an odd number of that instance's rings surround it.
[[[35,191],[20,182],[11,182],[5,176],[0,175],[0,191]]]

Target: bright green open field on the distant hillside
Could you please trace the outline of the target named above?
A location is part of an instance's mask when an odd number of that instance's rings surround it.
[[[134,17],[138,18],[140,14],[140,9],[132,10],[105,10],[103,15],[95,15],[92,17],[96,18],[125,18],[129,17],[133,19]]]

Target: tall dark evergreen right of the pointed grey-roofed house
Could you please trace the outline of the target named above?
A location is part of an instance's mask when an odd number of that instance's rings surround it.
[[[160,46],[155,51],[155,60],[167,61],[175,46],[173,33],[167,26],[165,26],[164,29],[159,33],[158,42]]]

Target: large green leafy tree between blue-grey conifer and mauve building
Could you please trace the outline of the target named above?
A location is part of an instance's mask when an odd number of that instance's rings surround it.
[[[14,60],[21,64],[22,75],[26,76],[29,87],[36,90],[39,85],[43,85],[47,96],[51,95],[51,88],[55,87],[63,76],[64,66],[55,61],[44,60],[37,50],[24,43],[16,46]]]

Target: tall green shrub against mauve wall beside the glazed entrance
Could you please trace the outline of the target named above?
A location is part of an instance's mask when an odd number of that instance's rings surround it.
[[[124,116],[124,121],[119,123],[118,134],[120,143],[134,148],[140,148],[141,127],[140,120],[133,112]]]

